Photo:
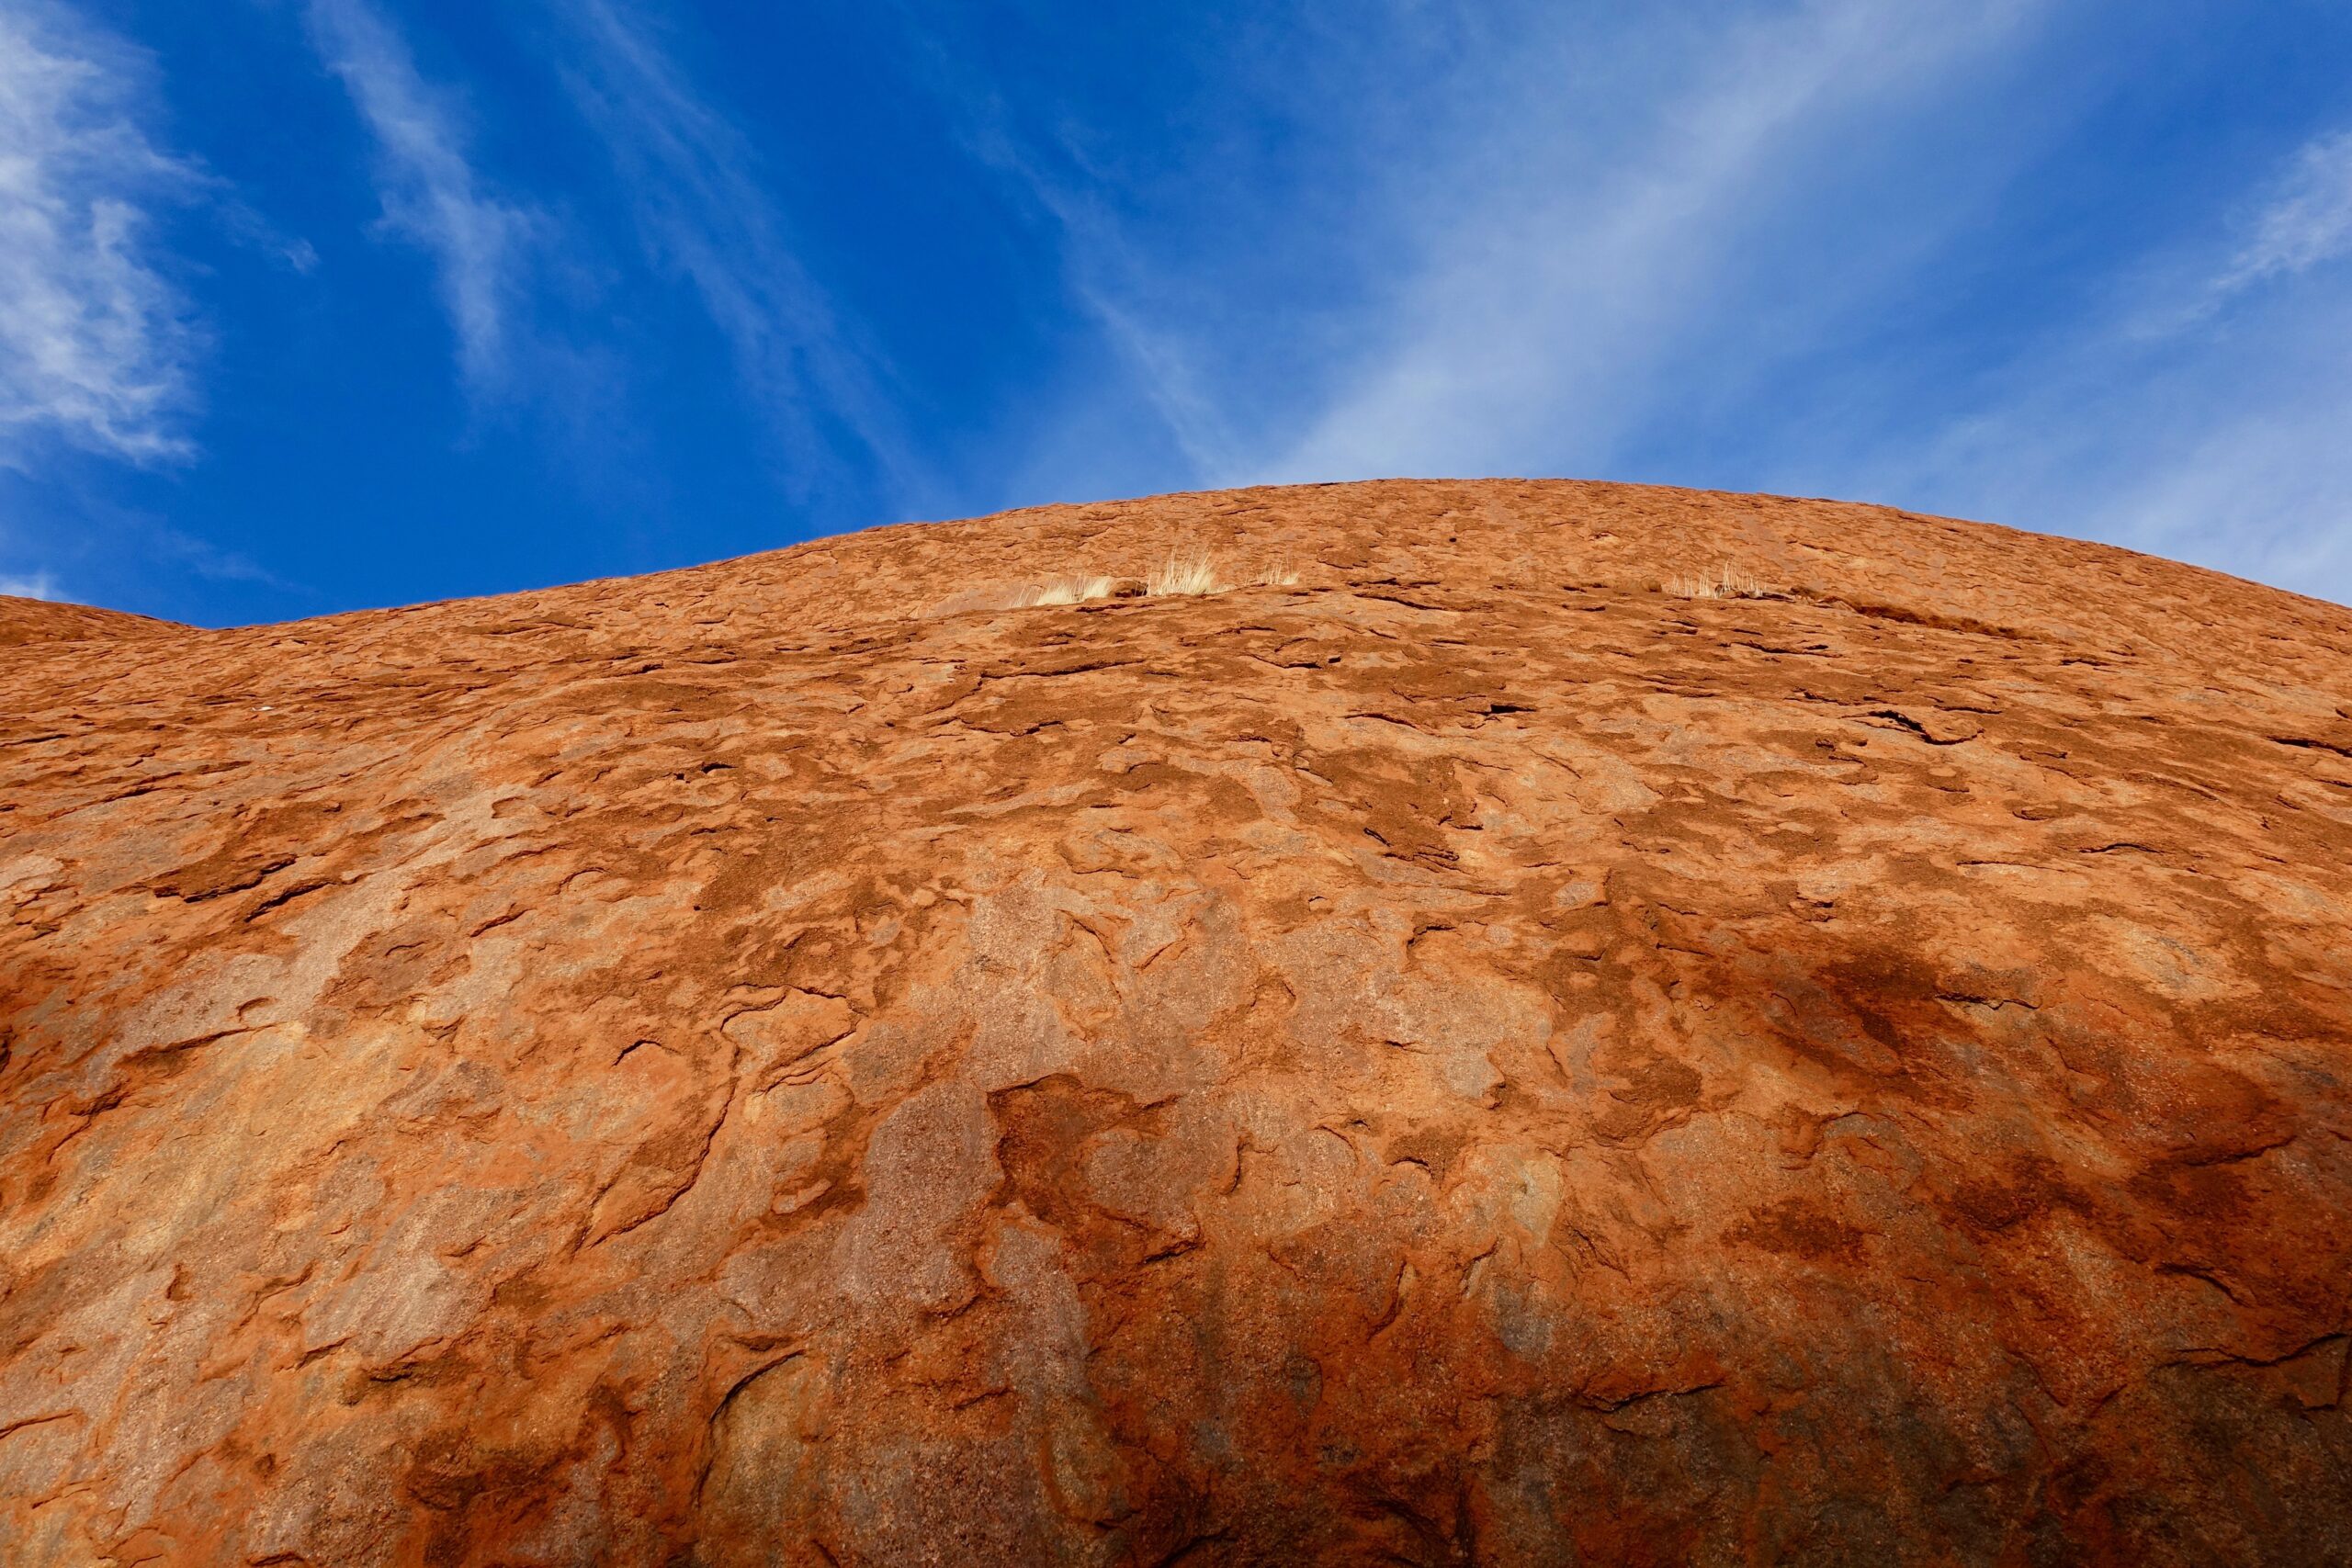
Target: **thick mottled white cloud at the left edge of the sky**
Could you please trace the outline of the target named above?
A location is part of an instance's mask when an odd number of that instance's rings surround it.
[[[0,463],[45,437],[134,463],[186,458],[191,306],[153,202],[200,174],[139,129],[143,59],[66,12],[0,2]]]

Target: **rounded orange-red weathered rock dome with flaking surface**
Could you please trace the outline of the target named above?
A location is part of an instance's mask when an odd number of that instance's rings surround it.
[[[2352,1561],[2347,611],[1397,482],[75,635],[12,1566]]]

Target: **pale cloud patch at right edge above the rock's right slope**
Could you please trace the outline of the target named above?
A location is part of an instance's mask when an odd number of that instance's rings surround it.
[[[1976,407],[1877,454],[1870,491],[2352,604],[2352,132],[2204,219],[2110,266],[2112,313],[2025,343]]]

